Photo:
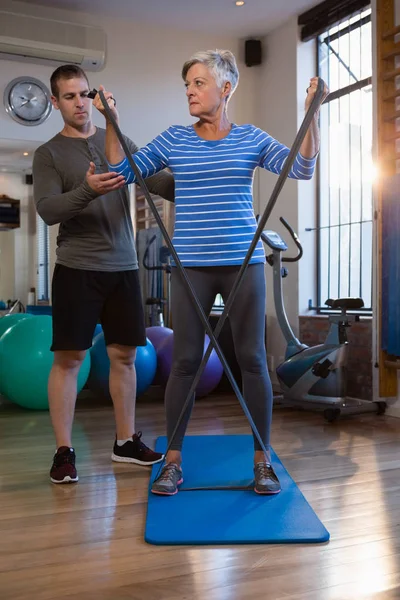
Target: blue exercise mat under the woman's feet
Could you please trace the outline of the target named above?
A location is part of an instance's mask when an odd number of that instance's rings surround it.
[[[157,440],[163,452],[166,438]],[[181,489],[247,485],[253,477],[250,435],[187,436],[183,447]],[[273,453],[282,491],[274,496],[254,491],[180,491],[175,496],[150,492],[145,540],[157,545],[321,543],[329,533]]]

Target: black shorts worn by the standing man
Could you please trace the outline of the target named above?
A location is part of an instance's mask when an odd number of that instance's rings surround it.
[[[85,271],[56,264],[51,350],[87,350],[101,323],[106,345],[145,346],[139,273]]]

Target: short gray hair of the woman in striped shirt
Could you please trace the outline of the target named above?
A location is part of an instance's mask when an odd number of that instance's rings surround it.
[[[229,81],[232,85],[230,96],[233,94],[239,81],[239,70],[236,59],[230,50],[205,50],[193,54],[182,67],[184,81],[189,69],[197,63],[205,65],[211,71],[219,87]]]

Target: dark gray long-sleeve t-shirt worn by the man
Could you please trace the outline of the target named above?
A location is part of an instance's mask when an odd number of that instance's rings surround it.
[[[73,269],[138,268],[127,187],[99,196],[86,182],[90,161],[106,173],[105,130],[88,138],[58,133],[33,159],[36,210],[47,225],[60,224],[57,263]],[[137,146],[125,138],[132,154]],[[146,180],[149,191],[174,201],[174,179],[165,171]]]

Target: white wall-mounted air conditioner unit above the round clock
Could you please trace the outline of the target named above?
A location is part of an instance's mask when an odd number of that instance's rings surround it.
[[[0,11],[0,59],[104,67],[106,35],[99,27]]]

